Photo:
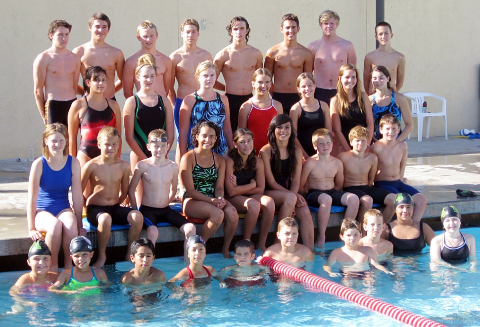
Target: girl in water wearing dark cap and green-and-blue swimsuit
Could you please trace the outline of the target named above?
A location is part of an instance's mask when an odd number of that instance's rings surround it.
[[[70,242],[70,258],[74,267],[64,269],[53,288],[61,289],[64,285],[68,290],[76,290],[83,287],[98,286],[100,282],[108,282],[107,275],[100,268],[90,267],[90,261],[94,255],[92,242],[85,236],[77,236]]]

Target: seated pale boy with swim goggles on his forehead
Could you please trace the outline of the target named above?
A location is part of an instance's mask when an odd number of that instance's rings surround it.
[[[140,212],[144,216],[144,226],[149,240],[156,243],[157,222],[169,223],[185,234],[184,255],[187,261],[187,239],[196,234],[195,225],[173,210],[168,204],[175,197],[178,183],[178,165],[165,158],[168,151],[168,135],[164,130],[153,130],[148,134],[146,148],[152,153],[150,158],[140,161],[133,172],[128,188],[132,208],[137,208],[135,189],[140,180],[144,188]]]

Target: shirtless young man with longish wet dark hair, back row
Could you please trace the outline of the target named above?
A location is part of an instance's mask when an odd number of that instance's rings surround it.
[[[232,130],[235,131],[239,126],[240,106],[252,97],[252,76],[255,70],[263,67],[263,55],[259,49],[247,44],[250,38],[250,27],[244,17],[232,18],[227,25],[227,31],[230,36],[230,45],[215,55],[213,63],[217,65],[218,71],[225,79],[225,95],[230,105],[230,122]],[[220,90],[221,84],[217,81],[215,87]]]

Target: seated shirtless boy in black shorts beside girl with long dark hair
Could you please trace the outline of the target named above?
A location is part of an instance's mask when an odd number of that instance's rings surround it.
[[[339,159],[330,155],[333,144],[332,133],[325,128],[318,129],[312,135],[312,142],[317,154],[308,158],[303,164],[300,188],[303,189],[308,185],[308,194],[305,199],[309,206],[318,208],[318,238],[315,246],[323,248],[332,204],[346,206],[344,217],[355,219],[359,200],[355,194],[341,191],[343,165]]]

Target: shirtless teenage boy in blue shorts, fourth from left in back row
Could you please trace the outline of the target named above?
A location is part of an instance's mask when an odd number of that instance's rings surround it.
[[[196,66],[205,60],[213,60],[210,52],[196,46],[196,42],[200,36],[200,25],[196,20],[193,18],[185,19],[182,24],[180,24],[180,36],[183,39],[183,46],[170,54],[170,59],[172,60],[172,72],[170,74],[172,82],[168,93],[168,99],[175,105],[173,116],[177,136],[182,100],[185,96],[192,94],[200,87],[195,78]],[[173,90],[175,79],[177,79],[178,83],[177,93]],[[180,158],[176,161],[177,163],[180,162]]]

